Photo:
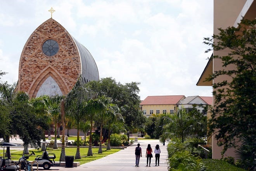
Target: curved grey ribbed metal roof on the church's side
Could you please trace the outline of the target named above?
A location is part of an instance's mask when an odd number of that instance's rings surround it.
[[[73,37],[72,37],[73,38]],[[81,61],[81,75],[85,83],[90,81],[99,81],[99,71],[90,52],[76,39],[74,39],[76,47],[78,48]]]

